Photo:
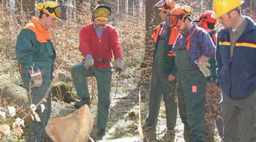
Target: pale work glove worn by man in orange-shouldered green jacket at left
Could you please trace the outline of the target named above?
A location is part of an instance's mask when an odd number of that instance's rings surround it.
[[[40,69],[38,69],[38,71],[36,71],[35,73],[31,70],[28,70],[28,73],[30,74],[30,77],[31,77],[30,87],[31,88],[40,87],[43,83],[42,73],[41,73]]]

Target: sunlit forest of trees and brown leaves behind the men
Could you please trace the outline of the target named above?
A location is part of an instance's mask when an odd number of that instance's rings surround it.
[[[104,139],[116,139],[120,137],[139,136],[138,133],[138,94],[142,96],[141,113],[143,122],[148,111],[149,82],[153,62],[153,42],[151,35],[154,28],[161,22],[159,10],[154,7],[158,0],[56,0],[67,8],[67,20],[58,21],[58,24],[50,28],[52,40],[55,45],[57,58],[55,60],[54,76],[57,77],[53,85],[63,85],[69,95],[76,91],[70,74],[73,65],[83,60],[78,50],[79,30],[83,25],[91,23],[91,11],[97,4],[110,5],[112,8],[112,20],[109,21],[118,30],[122,44],[125,71],[120,76],[114,72],[112,76],[112,90],[110,97],[110,119],[107,135]],[[16,38],[19,31],[31,20],[37,17],[39,12],[35,5],[42,0],[0,0],[0,80],[9,80],[22,86],[21,76],[18,71],[18,63],[15,55]],[[180,5],[191,6],[193,20],[206,10],[212,9],[212,0],[176,0]],[[256,2],[248,0],[242,6],[242,14],[256,20]],[[221,25],[217,24],[219,30]],[[92,100],[91,111],[96,117],[97,112],[97,82],[94,77],[88,77],[89,90]],[[6,116],[0,113],[0,141],[24,141],[24,134],[10,131],[5,135],[3,127],[12,125],[18,117],[24,116],[24,107],[17,106],[11,98],[3,98],[2,93],[6,88],[0,82],[0,112],[6,112]],[[65,105],[70,104],[53,92],[53,101]],[[65,101],[65,102],[64,102]],[[74,100],[72,100],[74,101]],[[8,107],[14,106],[16,116],[8,114]],[[142,122],[142,123],[143,123]],[[25,126],[26,127],[26,126]],[[182,142],[183,124],[178,116],[176,140]],[[3,130],[3,131],[2,131]],[[11,129],[15,130],[15,129]],[[157,125],[157,139],[161,141],[165,130],[165,108],[161,103],[159,121]],[[19,131],[20,132],[20,131]],[[162,134],[161,134],[162,133]],[[19,136],[17,136],[19,135]],[[215,141],[219,137],[215,133]]]

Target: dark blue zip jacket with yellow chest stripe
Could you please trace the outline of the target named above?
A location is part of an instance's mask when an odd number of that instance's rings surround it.
[[[230,57],[230,35],[222,28],[217,37],[217,79],[225,95],[238,100],[256,90],[256,24],[244,16],[247,24]]]

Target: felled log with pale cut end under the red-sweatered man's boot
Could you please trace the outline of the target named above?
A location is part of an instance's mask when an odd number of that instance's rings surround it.
[[[2,98],[10,97],[19,107],[28,106],[26,89],[0,78]],[[93,126],[92,113],[87,105],[74,107],[52,101],[52,113],[45,131],[53,142],[86,142]]]

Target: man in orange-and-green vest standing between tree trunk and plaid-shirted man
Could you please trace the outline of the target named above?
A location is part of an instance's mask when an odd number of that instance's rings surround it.
[[[155,6],[161,10],[159,13],[162,23],[156,27],[152,38],[154,40],[154,65],[152,67],[152,78],[149,92],[149,112],[146,118],[145,134],[147,139],[156,139],[156,125],[159,114],[160,103],[164,96],[166,110],[167,131],[164,141],[173,141],[175,137],[174,128],[177,118],[177,103],[175,103],[176,89],[176,66],[172,46],[178,35],[178,30],[169,28],[166,15],[170,13],[176,5],[172,0],[160,0]]]

